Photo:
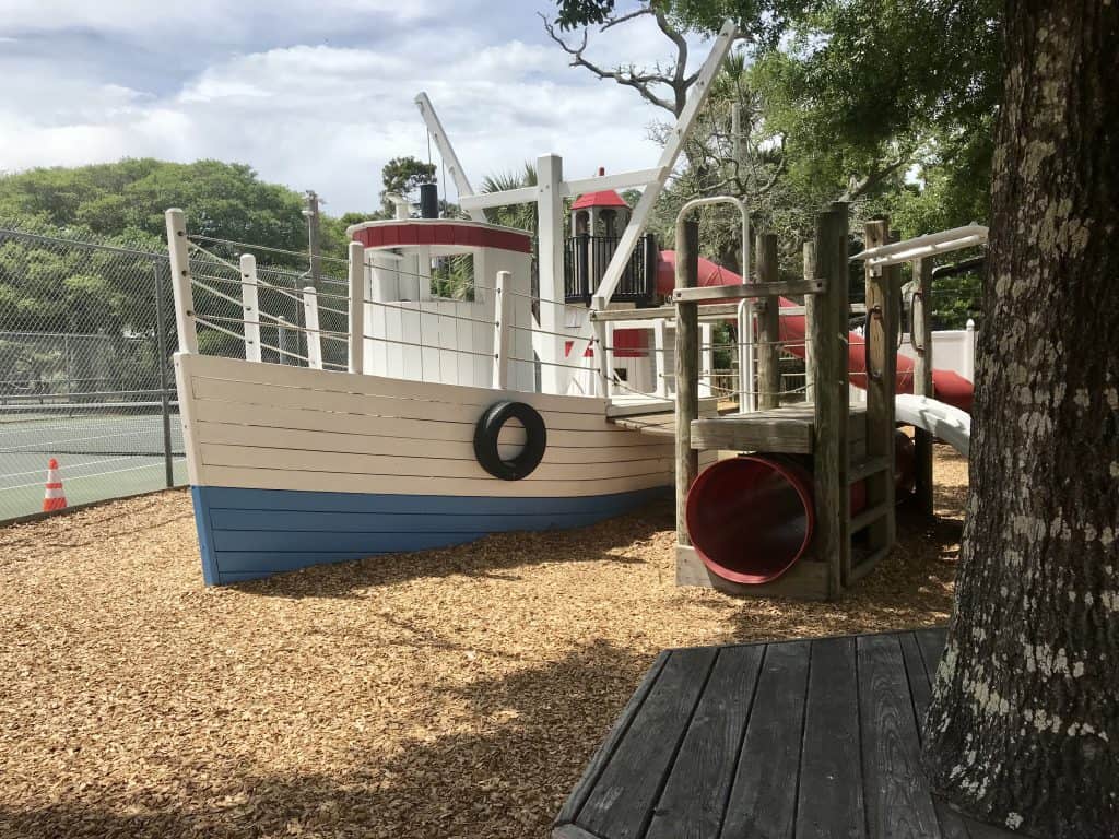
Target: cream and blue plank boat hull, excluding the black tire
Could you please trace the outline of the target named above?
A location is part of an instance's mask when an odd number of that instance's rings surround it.
[[[671,483],[673,443],[606,421],[601,398],[501,392],[198,355],[176,358],[208,585],[507,530],[579,527]],[[473,454],[495,402],[536,408],[547,447],[519,481]],[[520,428],[506,427],[515,451]]]

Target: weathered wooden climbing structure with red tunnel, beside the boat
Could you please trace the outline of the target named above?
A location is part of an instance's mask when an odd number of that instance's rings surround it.
[[[916,307],[920,317],[913,318],[916,361],[912,370],[897,369],[901,264],[914,263],[916,299],[928,299],[931,254],[976,244],[986,232],[961,228],[929,241],[891,243],[888,223],[876,220],[866,225],[866,249],[849,257],[848,210],[836,204],[817,218],[815,242],[806,247],[803,280],[779,281],[777,237],[765,234],[758,237],[756,282],[698,287],[698,228],[681,211],[677,227],[673,295],[677,583],[755,596],[835,597],[868,573],[896,540],[895,487],[902,473],[910,472],[909,462],[899,464],[895,454],[899,390],[912,392],[910,398],[928,406],[929,413],[961,413],[929,398],[931,332],[924,305]],[[847,328],[852,260],[865,266],[861,341]],[[783,404],[778,364],[790,345],[782,327],[790,309],[781,296],[790,294],[805,300],[808,400]],[[731,301],[751,301],[756,318],[756,409],[700,416],[700,311]],[[852,384],[865,390],[865,403],[852,399]],[[919,426],[915,453],[909,455],[904,440],[901,451],[905,461],[915,463],[916,503],[931,513],[932,434],[920,426],[939,426],[922,416],[906,420]],[[752,454],[721,461],[700,474],[700,454],[717,452]]]

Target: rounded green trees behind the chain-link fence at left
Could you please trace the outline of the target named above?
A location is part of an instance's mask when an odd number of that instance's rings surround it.
[[[286,260],[271,252],[270,256],[274,263],[305,267],[298,253],[307,247],[303,197],[262,182],[246,166],[144,159],[0,177],[0,227],[75,243],[163,254],[168,207],[186,211],[192,234],[297,252]],[[98,347],[113,345],[116,358],[126,357],[126,347],[137,345],[132,337],[154,334],[154,271],[160,264],[128,249],[4,238],[0,330],[102,336]],[[163,301],[167,312],[169,296],[168,292]],[[30,345],[17,343],[19,365],[34,367]]]

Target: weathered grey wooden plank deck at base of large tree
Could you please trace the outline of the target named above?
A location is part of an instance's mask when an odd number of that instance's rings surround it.
[[[554,839],[1010,839],[933,800],[944,630],[662,652]]]

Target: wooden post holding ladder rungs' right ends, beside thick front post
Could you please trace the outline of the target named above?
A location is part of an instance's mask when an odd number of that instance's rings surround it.
[[[866,247],[890,241],[890,223],[868,221]],[[872,554],[894,543],[894,392],[897,387],[897,274],[900,266],[866,267],[866,456],[884,458],[890,468],[867,479],[867,509],[885,505],[887,512],[867,528]]]

